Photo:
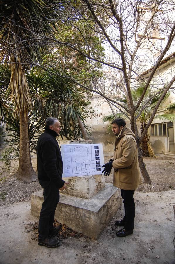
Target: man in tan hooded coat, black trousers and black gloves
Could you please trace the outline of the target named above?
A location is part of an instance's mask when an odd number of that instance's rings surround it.
[[[125,216],[120,221],[115,221],[116,226],[124,226],[116,235],[128,236],[133,233],[135,203],[134,191],[140,185],[140,169],[137,156],[137,143],[135,134],[127,128],[123,119],[117,118],[112,122],[112,131],[115,134],[114,157],[103,165],[104,175],[108,175],[114,168],[113,185],[121,189]]]

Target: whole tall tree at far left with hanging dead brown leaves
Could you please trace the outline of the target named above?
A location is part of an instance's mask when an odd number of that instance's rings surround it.
[[[45,50],[43,38],[53,36],[57,16],[53,3],[42,0],[2,0],[0,2],[0,61],[9,65],[11,78],[5,99],[13,105],[12,116],[19,119],[20,154],[16,177],[31,182],[35,175],[30,159],[28,113],[33,108],[26,72]],[[59,10],[59,6],[57,10]],[[42,38],[42,42],[40,39]]]

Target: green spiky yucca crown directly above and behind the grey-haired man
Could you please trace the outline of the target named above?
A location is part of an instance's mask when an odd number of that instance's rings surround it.
[[[27,76],[31,89],[37,90],[41,100],[36,100],[34,106],[38,105],[40,111],[36,111],[37,120],[45,120],[48,116],[55,116],[62,124],[60,136],[69,140],[77,139],[80,133],[84,139],[88,139],[89,129],[84,123],[86,109],[82,106],[90,104],[89,101],[78,97],[81,94],[70,80],[72,72],[67,72],[66,68],[48,68],[41,74],[31,71]],[[76,76],[74,76],[76,78]],[[39,105],[40,104],[40,105]]]

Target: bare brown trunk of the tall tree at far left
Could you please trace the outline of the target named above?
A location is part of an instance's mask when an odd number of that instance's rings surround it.
[[[24,109],[20,113],[19,117],[19,129],[20,129],[20,144],[19,144],[19,167],[16,172],[16,178],[25,183],[32,182],[35,178],[35,172],[32,167],[30,150],[29,150],[29,138],[28,138],[28,117],[24,114]]]

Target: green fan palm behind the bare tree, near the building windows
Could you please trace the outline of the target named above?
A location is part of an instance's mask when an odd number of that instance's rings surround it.
[[[140,84],[140,83],[136,84],[135,87],[133,89],[131,89],[133,102],[137,102],[137,100],[142,95],[143,90],[144,90],[144,83],[143,84]],[[159,109],[158,109],[159,111],[164,111],[164,114],[157,114],[157,115],[155,115],[155,118],[158,118],[158,119],[166,118],[170,121],[175,120],[175,115],[170,113],[170,111],[174,109],[175,104],[169,104],[169,105],[165,104],[166,99],[169,97],[169,94],[170,93],[166,94],[166,97],[164,98],[164,100],[162,101],[162,103],[160,104]],[[160,96],[161,96],[161,93],[157,94],[153,91],[153,89],[148,87],[147,92],[145,93],[145,96],[142,100],[142,103],[140,104],[140,107],[135,112],[135,116],[137,117],[137,120],[140,121],[140,124],[141,124],[141,134],[142,134],[142,132],[143,132],[143,130],[147,124],[147,121],[150,119],[150,117],[152,115],[152,111],[154,109],[154,106],[156,105]],[[123,106],[125,106],[125,108],[127,108],[127,99],[126,99],[125,95],[123,95],[123,97],[121,99],[119,99],[118,101],[121,104],[123,104]],[[146,104],[145,108],[143,110],[141,110],[146,102],[147,102],[147,104]],[[105,117],[103,117],[103,122],[104,123],[107,121],[112,122],[113,119],[115,119],[116,117],[125,118],[125,112],[116,113],[115,116],[113,114],[109,115],[109,116],[105,116]],[[111,129],[110,125],[108,126],[108,130],[109,129]],[[143,138],[143,140],[141,142],[142,155],[146,156],[146,157],[153,155],[153,153],[151,151],[152,149],[151,149],[148,141],[149,141],[149,137],[148,137],[148,133],[146,133],[145,137]]]

